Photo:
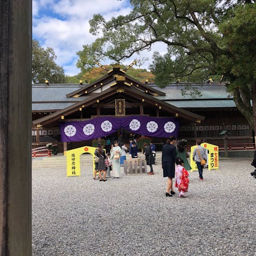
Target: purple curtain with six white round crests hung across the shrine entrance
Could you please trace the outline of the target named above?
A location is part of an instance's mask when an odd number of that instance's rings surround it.
[[[129,116],[99,117],[89,121],[60,122],[63,142],[91,140],[115,133],[120,127],[149,137],[178,136],[179,121],[175,118]]]

